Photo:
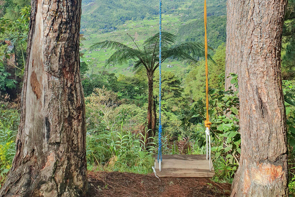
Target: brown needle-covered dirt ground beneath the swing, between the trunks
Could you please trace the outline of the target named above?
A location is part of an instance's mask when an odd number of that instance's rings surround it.
[[[208,178],[158,178],[122,172],[89,172],[90,196],[230,196],[228,183]]]

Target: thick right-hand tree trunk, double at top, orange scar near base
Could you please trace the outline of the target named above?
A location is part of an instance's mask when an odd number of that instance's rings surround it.
[[[240,166],[231,196],[288,196],[281,35],[286,0],[228,0],[227,67],[237,67]]]

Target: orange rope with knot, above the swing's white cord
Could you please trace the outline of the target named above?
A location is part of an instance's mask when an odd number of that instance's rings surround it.
[[[211,122],[209,121],[209,90],[208,90],[208,46],[207,46],[207,2],[204,0],[204,26],[205,26],[205,71],[206,71],[206,121],[205,127],[210,128]]]

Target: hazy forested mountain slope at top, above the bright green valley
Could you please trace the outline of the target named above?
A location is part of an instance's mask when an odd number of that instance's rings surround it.
[[[81,28],[116,28],[127,20],[142,20],[158,14],[158,0],[83,0]],[[162,1],[162,11],[165,14],[180,14],[185,22],[203,16],[202,0],[169,0]],[[208,2],[208,16],[224,15],[225,0]]]

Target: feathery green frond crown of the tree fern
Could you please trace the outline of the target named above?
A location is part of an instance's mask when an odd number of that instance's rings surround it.
[[[187,42],[171,47],[171,45],[175,44],[175,40],[175,35],[162,32],[162,62],[169,57],[179,58],[181,60],[189,59],[197,62],[195,57],[205,56],[203,44]],[[135,41],[133,40],[133,42]],[[90,47],[90,49],[95,48],[117,49],[106,61],[106,65],[124,64],[127,63],[128,60],[134,59],[136,60],[133,68],[135,71],[142,66],[145,66],[147,71],[155,71],[159,66],[159,33],[145,40],[142,49],[138,47],[136,49],[130,48],[127,45],[115,41],[104,41]],[[211,57],[209,56],[209,58]]]

